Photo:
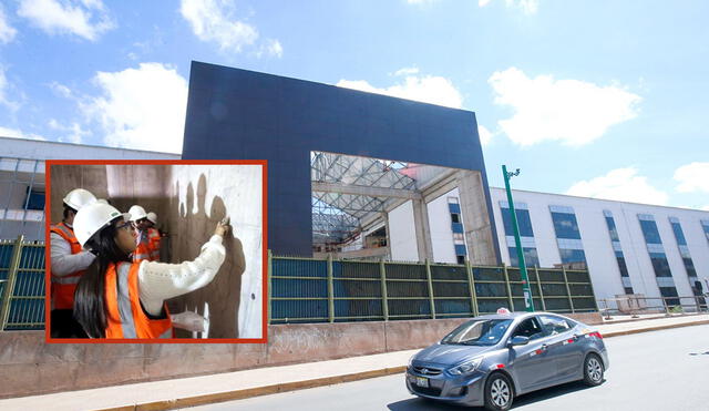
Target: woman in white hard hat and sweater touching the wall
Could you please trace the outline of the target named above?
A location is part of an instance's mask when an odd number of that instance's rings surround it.
[[[165,300],[208,285],[225,259],[219,222],[192,261],[165,264],[130,257],[136,248],[127,214],[95,203],[76,214],[79,243],[96,254],[76,288],[74,317],[91,338],[171,338],[175,318]]]

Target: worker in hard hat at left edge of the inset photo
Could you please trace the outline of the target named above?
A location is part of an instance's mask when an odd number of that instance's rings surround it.
[[[62,222],[50,226],[50,335],[53,338],[85,337],[72,315],[74,290],[95,256],[83,250],[74,235],[73,223],[76,212],[95,201],[86,189],[72,189],[63,198]]]

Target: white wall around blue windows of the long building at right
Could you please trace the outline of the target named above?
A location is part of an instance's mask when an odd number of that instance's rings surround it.
[[[574,208],[597,298],[612,298],[615,295],[624,294],[620,270],[613,250],[603,214],[604,209],[613,213],[628,275],[636,294],[644,294],[648,297],[659,297],[660,295],[645,237],[640,229],[638,214],[650,214],[655,217],[679,296],[690,296],[692,292],[669,223],[670,216],[680,220],[699,279],[705,282],[703,279],[709,278],[709,242],[707,242],[700,224],[701,219],[709,219],[708,212],[524,191],[513,191],[513,195],[515,203],[527,204],[540,264],[543,267],[552,267],[561,263],[549,205]],[[506,201],[505,191],[491,188],[491,198],[502,258],[506,264],[510,264],[500,212],[500,201]],[[707,291],[706,286],[705,291]]]

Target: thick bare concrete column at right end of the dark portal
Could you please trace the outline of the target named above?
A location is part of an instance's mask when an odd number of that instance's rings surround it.
[[[472,265],[494,266],[497,259],[482,175],[480,172],[461,169],[456,179],[470,261]]]

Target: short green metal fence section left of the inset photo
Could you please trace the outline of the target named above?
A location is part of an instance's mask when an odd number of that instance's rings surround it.
[[[44,328],[44,244],[0,240],[0,330]]]

